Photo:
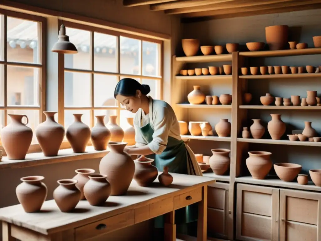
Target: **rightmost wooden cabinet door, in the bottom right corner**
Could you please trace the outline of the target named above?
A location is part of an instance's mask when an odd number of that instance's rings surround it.
[[[320,241],[321,193],[280,190],[280,241]]]

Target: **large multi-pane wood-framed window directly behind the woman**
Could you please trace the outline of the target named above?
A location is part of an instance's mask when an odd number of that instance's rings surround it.
[[[59,122],[65,129],[73,123],[73,113],[82,113],[82,121],[93,127],[95,115],[117,115],[117,122],[125,127],[127,117],[134,114],[123,109],[114,98],[117,82],[131,77],[151,87],[150,95],[160,99],[161,41],[124,35],[115,31],[65,22],[66,34],[78,49],[66,54],[64,61],[64,101],[59,102],[64,116]],[[59,96],[60,98],[60,96]]]

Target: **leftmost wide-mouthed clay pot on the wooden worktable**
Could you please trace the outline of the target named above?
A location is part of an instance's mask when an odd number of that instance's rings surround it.
[[[43,176],[22,177],[16,187],[18,201],[25,212],[39,212],[42,204],[47,198],[47,186],[41,182]]]

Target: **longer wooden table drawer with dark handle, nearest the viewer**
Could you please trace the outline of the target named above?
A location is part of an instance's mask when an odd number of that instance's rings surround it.
[[[75,240],[86,240],[120,228],[134,225],[135,212],[130,210],[75,229]]]

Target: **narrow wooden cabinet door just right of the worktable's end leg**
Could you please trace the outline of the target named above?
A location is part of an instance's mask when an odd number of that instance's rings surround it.
[[[207,188],[207,234],[226,238],[229,217],[229,183],[213,183]]]

